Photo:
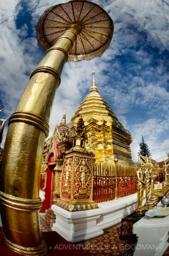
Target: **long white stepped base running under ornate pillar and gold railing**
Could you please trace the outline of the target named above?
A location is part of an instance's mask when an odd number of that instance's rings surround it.
[[[56,215],[52,230],[69,242],[79,242],[99,236],[103,234],[103,229],[119,223],[123,217],[135,211],[137,194],[98,205],[98,209],[75,212],[52,205],[51,208]]]

